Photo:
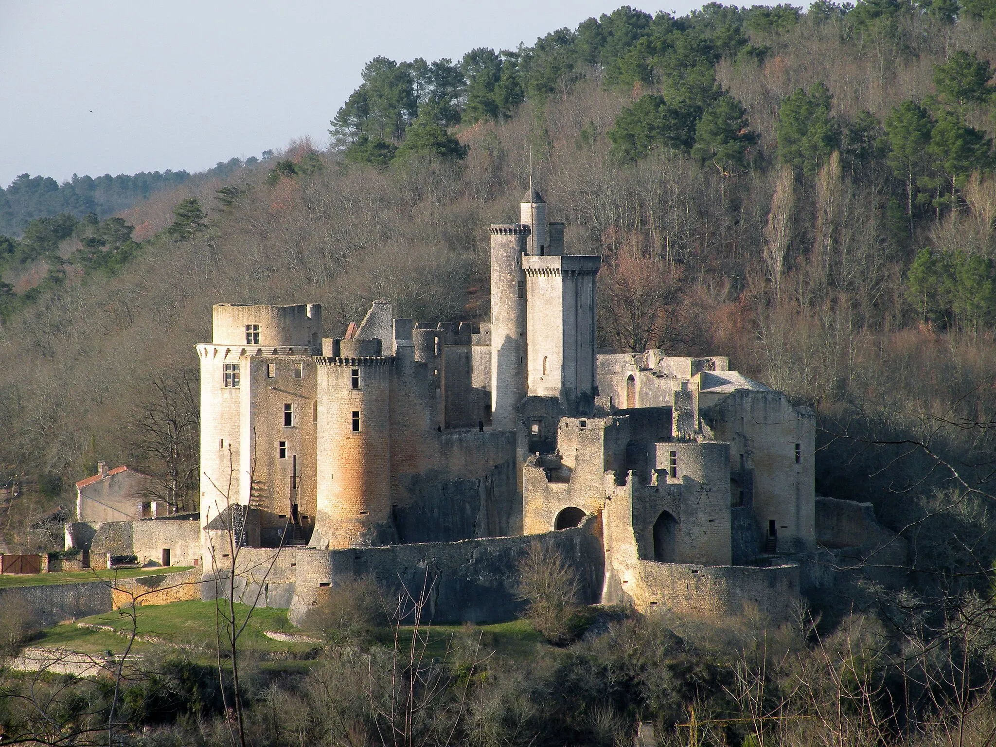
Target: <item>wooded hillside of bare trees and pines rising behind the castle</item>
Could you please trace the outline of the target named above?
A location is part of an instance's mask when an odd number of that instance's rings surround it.
[[[110,218],[31,220],[0,238],[0,463],[25,496],[8,534],[30,544],[99,458],[169,474],[170,500],[195,503],[192,346],[212,303],[318,302],[328,335],[381,297],[487,319],[485,227],[517,214],[530,150],[569,251],[603,256],[605,349],[728,355],[809,403],[819,490],[894,526],[980,488],[993,14],[624,6],[514,51],[376,58],[328,149],[295,141]]]

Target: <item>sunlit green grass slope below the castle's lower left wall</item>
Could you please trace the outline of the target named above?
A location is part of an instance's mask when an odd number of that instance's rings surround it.
[[[235,614],[239,624],[245,621],[249,607],[236,605]],[[93,625],[109,625],[116,630],[130,630],[131,618],[124,611],[113,611],[104,615],[94,615],[77,622],[67,622],[43,631],[32,641],[32,645],[62,646],[76,651],[93,653],[113,650],[123,651],[127,638],[108,630],[93,630],[81,627],[79,622]],[[139,607],[137,609],[138,635],[160,638],[169,643],[194,646],[205,651],[213,650],[217,644],[213,602],[174,602],[171,605]],[[287,643],[273,640],[263,634],[264,630],[299,632],[287,620],[286,610],[257,608],[239,638],[243,650],[257,651],[307,651],[314,647],[310,643]],[[222,644],[225,641],[222,632]],[[156,643],[138,641],[134,650],[147,650]]]

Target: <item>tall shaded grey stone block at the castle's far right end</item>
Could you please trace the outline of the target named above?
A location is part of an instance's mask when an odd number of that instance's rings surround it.
[[[779,553],[814,550],[816,422],[812,410],[793,406],[780,391],[740,390],[703,410],[703,418],[717,440],[730,442],[734,472],[743,454],[744,470],[752,481],[758,533],[767,537],[774,521]]]

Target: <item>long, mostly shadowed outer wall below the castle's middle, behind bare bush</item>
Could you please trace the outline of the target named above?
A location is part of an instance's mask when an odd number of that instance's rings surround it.
[[[502,537],[454,543],[393,545],[298,554],[291,621],[301,622],[323,589],[344,579],[370,576],[385,590],[426,594],[432,622],[500,622],[518,615],[520,559],[530,544],[555,547],[582,580],[582,601],[601,600],[604,574],[598,522],[538,537]],[[322,586],[326,585],[326,586]]]

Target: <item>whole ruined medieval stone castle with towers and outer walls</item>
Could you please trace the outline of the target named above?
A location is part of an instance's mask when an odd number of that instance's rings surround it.
[[[829,583],[813,559],[880,528],[815,495],[813,412],[725,358],[600,355],[601,260],[565,254],[546,210],[530,190],[518,223],[491,226],[490,324],[375,301],[323,339],[315,304],[216,305],[196,347],[196,537],[161,556],[217,577],[234,532],[245,568],[267,569],[242,594],[294,620],[361,575],[428,584],[438,620],[508,618],[534,543],[584,601],[642,612],[781,619]]]

